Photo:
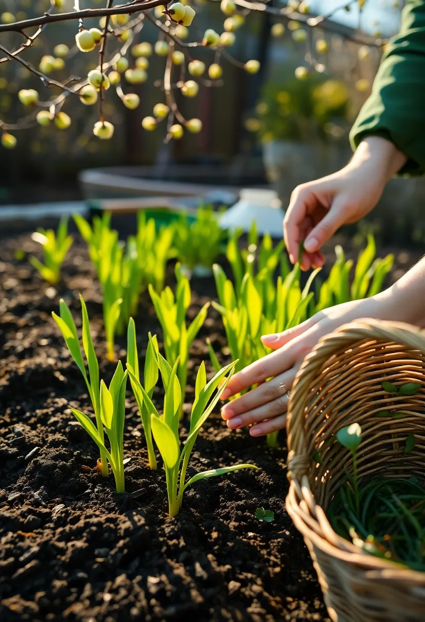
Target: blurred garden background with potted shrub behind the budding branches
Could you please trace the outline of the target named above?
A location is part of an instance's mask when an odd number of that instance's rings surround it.
[[[272,0],[268,6],[286,4]],[[48,6],[50,0],[0,0],[0,13],[26,19],[39,16]],[[81,2],[83,8],[96,6],[104,6],[104,0]],[[299,9],[299,3],[294,1],[293,7]],[[72,8],[71,0],[63,1],[61,10]],[[225,16],[219,2],[198,0],[195,8],[189,40],[201,40],[206,28],[222,32]],[[383,52],[382,45],[364,42],[385,41],[395,34],[402,6],[393,0],[360,0],[348,7],[344,3],[341,7],[338,0],[311,0],[301,4],[303,9],[313,15],[332,13],[331,27],[304,29],[296,22],[277,22],[263,12],[250,12],[229,53],[237,62],[260,60],[260,71],[249,75],[222,58],[223,80],[217,85],[201,86],[193,99],[178,93],[183,115],[203,122],[200,134],[185,132],[180,141],[164,144],[162,127],[153,132],[142,129],[142,118],[152,114],[155,103],[165,101],[166,61],[155,55],[149,59],[148,80],[125,88],[140,96],[139,108],[126,109],[113,88],[107,91],[104,114],[116,127],[110,141],[93,136],[98,107],[84,106],[73,101],[76,98],[68,98],[63,106],[72,119],[66,131],[35,126],[14,132],[16,149],[0,149],[0,204],[140,196],[144,191],[139,182],[153,179],[206,183],[217,190],[272,187],[285,208],[298,183],[329,174],[349,159],[349,129],[370,93]],[[86,20],[85,27],[91,26],[98,26],[98,20]],[[75,32],[73,21],[49,25],[25,52],[25,60],[38,67],[44,55],[65,43],[71,52],[52,77],[59,81],[84,77],[96,67],[98,55],[73,52]],[[138,35],[138,40],[152,44],[157,39],[158,29],[151,23]],[[22,37],[6,33],[0,40],[14,49]],[[110,45],[113,51],[116,41]],[[213,55],[201,48],[193,56],[208,65]],[[17,98],[22,88],[37,88],[46,100],[58,92],[52,87],[50,94],[17,62],[1,63],[4,123],[16,123],[27,114]],[[84,173],[87,170],[90,174]],[[132,180],[127,187],[124,178]],[[393,180],[368,226],[386,240],[423,242],[419,206],[424,194],[420,179]],[[149,196],[149,184],[145,195]]]

